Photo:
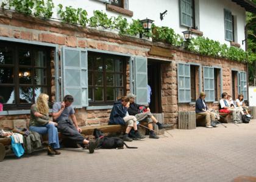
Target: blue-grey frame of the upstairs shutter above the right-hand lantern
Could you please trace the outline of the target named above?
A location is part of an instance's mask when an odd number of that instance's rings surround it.
[[[185,2],[185,4],[187,4],[188,0],[179,0],[179,11],[180,11],[180,25],[185,26],[185,27],[190,27],[192,29],[196,29],[196,18],[195,18],[195,3],[194,0],[189,0],[190,1],[190,10],[191,10],[191,25],[185,24],[184,22],[182,22],[182,17],[183,17],[183,12],[182,12],[182,1]],[[187,13],[186,13],[187,15]]]

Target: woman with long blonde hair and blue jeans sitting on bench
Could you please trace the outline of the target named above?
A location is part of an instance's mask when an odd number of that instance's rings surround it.
[[[57,123],[50,121],[49,118],[49,96],[41,93],[37,102],[30,108],[29,130],[40,134],[48,133],[48,155],[59,155],[60,152],[55,150],[60,147]]]

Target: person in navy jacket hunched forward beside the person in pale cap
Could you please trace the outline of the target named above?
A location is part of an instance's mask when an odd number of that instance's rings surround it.
[[[136,138],[140,138],[140,134],[138,133],[137,129],[137,119],[135,116],[130,116],[127,112],[129,106],[129,98],[127,98],[127,96],[123,96],[121,99],[114,103],[108,121],[108,124],[127,124],[126,133],[123,136],[124,141],[132,141],[132,138],[129,137],[129,132],[132,127],[135,131]]]

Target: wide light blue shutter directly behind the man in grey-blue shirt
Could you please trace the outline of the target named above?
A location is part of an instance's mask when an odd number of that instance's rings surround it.
[[[87,51],[62,47],[62,98],[74,97],[73,107],[88,106]]]

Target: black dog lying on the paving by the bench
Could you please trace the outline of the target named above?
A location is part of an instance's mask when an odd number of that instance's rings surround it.
[[[97,148],[101,149],[123,149],[126,146],[128,149],[138,149],[138,147],[129,147],[121,138],[104,136],[101,130],[94,129],[93,136],[101,138]]]

